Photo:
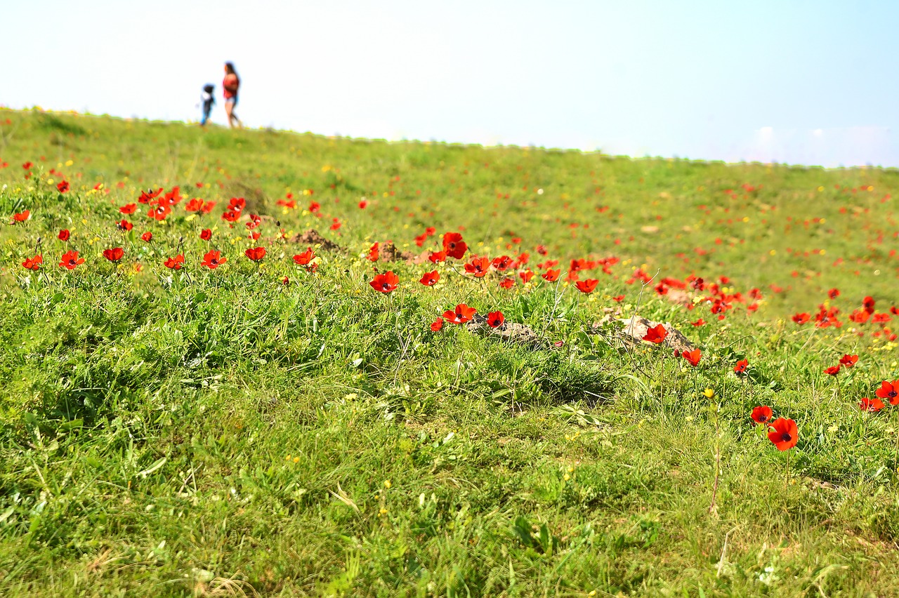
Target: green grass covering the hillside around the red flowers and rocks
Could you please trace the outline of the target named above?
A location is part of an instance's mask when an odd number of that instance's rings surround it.
[[[858,408],[899,377],[895,323],[847,318],[866,295],[878,313],[899,304],[895,171],[12,110],[0,111],[3,163],[0,219],[31,213],[0,226],[3,594],[899,586],[899,422]],[[63,179],[71,189],[59,193]],[[217,206],[188,215],[185,198],[159,223],[138,204],[124,216],[133,230],[117,230],[118,208],[141,189],[175,185]],[[287,193],[297,208],[277,205]],[[231,197],[263,215],[258,242],[246,216],[233,229],[220,218]],[[304,209],[312,201],[318,215]],[[429,226],[436,235],[417,247]],[[316,273],[291,260],[306,245],[280,238],[309,228],[344,250],[318,249]],[[619,262],[581,273],[600,280],[588,297],[539,275],[509,290],[494,273],[474,281],[464,260],[366,259],[373,242],[418,255],[455,231],[466,259],[527,251],[527,267],[559,259],[563,278],[571,259]],[[39,238],[44,264],[32,272],[22,261]],[[181,239],[187,268],[174,272],[163,262]],[[268,251],[262,266],[244,256],[256,245]],[[102,257],[111,247],[125,251],[119,264]],[[209,247],[224,266],[200,266]],[[67,249],[85,264],[58,268]],[[371,289],[373,268],[396,272],[393,294]],[[434,268],[441,282],[420,285]],[[628,284],[635,268],[658,274]],[[688,310],[674,291],[654,292],[690,274],[729,277],[727,294],[758,288],[761,299],[734,301],[719,321],[708,303]],[[501,310],[545,347],[450,323],[432,332],[463,302]],[[840,308],[840,328],[790,320],[819,303]],[[681,330],[702,350],[699,367],[594,326],[634,312]],[[708,324],[690,325],[700,317]],[[858,365],[823,374],[846,353]],[[744,379],[733,372],[741,358]],[[779,453],[752,426],[756,405],[797,421],[796,448]]]

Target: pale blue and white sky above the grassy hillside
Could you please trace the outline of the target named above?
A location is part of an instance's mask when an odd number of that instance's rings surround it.
[[[899,167],[899,2],[459,0],[0,8],[0,105],[606,154]],[[15,25],[13,23],[18,23]]]

